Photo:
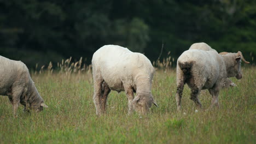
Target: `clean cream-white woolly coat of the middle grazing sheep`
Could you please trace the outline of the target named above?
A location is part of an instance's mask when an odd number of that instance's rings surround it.
[[[94,78],[101,75],[114,91],[125,91],[125,87],[133,87],[137,93],[151,93],[154,68],[141,53],[131,52],[118,45],[105,45],[94,53],[92,68]]]

